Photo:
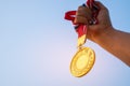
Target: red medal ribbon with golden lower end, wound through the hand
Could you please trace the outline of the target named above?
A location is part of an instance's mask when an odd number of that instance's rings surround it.
[[[99,14],[99,6],[95,4],[94,0],[88,0],[82,6],[88,6],[92,12],[92,20],[90,25],[98,24],[96,16]],[[75,24],[76,11],[68,11],[65,13],[65,19],[72,20],[75,25],[76,32],[78,33],[78,47],[82,46],[87,40],[87,26],[83,24]]]

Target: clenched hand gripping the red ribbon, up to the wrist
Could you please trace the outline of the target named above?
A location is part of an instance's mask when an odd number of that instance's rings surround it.
[[[79,6],[75,18],[76,24],[87,25],[88,39],[94,42],[96,42],[98,38],[100,38],[102,33],[105,33],[107,29],[113,29],[108,10],[99,1],[95,1],[95,4],[100,8],[98,15],[99,24],[89,25],[89,22],[92,20],[92,12],[87,6]]]

